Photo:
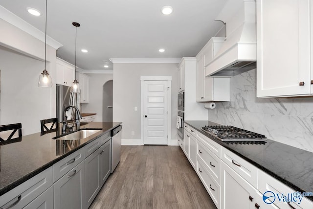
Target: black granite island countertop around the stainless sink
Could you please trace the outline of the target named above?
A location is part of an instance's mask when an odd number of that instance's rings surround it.
[[[102,130],[86,139],[75,140],[73,144],[70,140],[52,139],[58,135],[57,132],[52,132],[43,136],[40,136],[41,133],[22,136],[21,141],[1,145],[0,196],[120,124],[121,122],[81,124],[81,129],[102,128]]]

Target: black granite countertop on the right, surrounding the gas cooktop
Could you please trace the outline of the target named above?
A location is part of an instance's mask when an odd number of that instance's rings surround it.
[[[300,192],[313,192],[313,153],[268,139],[265,144],[223,142],[201,130],[210,121],[184,121],[201,134]],[[307,196],[313,200],[313,196]]]

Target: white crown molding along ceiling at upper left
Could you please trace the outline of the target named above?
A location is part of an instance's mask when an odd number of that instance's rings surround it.
[[[45,33],[0,5],[0,18],[45,43]],[[62,44],[47,36],[47,45],[58,49]]]

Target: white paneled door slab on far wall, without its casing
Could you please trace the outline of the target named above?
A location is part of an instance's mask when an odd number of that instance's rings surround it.
[[[144,144],[168,144],[168,81],[144,81]]]

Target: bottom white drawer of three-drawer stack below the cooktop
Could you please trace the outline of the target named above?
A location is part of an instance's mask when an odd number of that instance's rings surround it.
[[[221,207],[221,186],[212,178],[201,159],[197,159],[197,174],[215,206],[219,209]]]

